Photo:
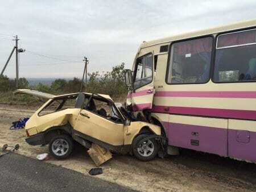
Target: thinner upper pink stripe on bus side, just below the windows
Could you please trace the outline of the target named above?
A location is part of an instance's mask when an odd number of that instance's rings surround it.
[[[256,98],[256,91],[156,91],[155,97]]]

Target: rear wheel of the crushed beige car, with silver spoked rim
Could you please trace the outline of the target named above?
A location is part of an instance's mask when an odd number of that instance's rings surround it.
[[[49,142],[49,152],[57,159],[67,158],[73,151],[73,140],[69,135],[53,136]]]

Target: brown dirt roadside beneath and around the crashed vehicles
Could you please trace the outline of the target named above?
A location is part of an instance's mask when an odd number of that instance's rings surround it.
[[[29,117],[36,109],[0,105],[0,145],[18,143],[19,154],[36,158],[48,148],[30,146],[24,129],[9,130],[11,122]],[[1,159],[0,159],[1,162]],[[95,165],[85,149],[75,146],[67,160],[44,161],[88,175]],[[94,176],[140,191],[256,191],[256,164],[183,149],[179,156],[141,162],[129,155],[114,155]]]

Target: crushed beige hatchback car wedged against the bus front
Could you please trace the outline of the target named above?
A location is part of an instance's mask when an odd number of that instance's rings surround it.
[[[31,116],[25,129],[28,144],[49,144],[49,152],[59,159],[71,154],[73,140],[88,149],[94,143],[112,152],[130,152],[142,161],[152,160],[166,143],[159,126],[138,121],[102,94],[54,96]]]

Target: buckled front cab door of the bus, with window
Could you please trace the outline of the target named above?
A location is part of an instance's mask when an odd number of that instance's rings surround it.
[[[154,89],[154,60],[153,54],[148,53],[136,61],[133,74],[133,91],[128,94],[127,103],[131,103],[134,111],[151,109]]]

